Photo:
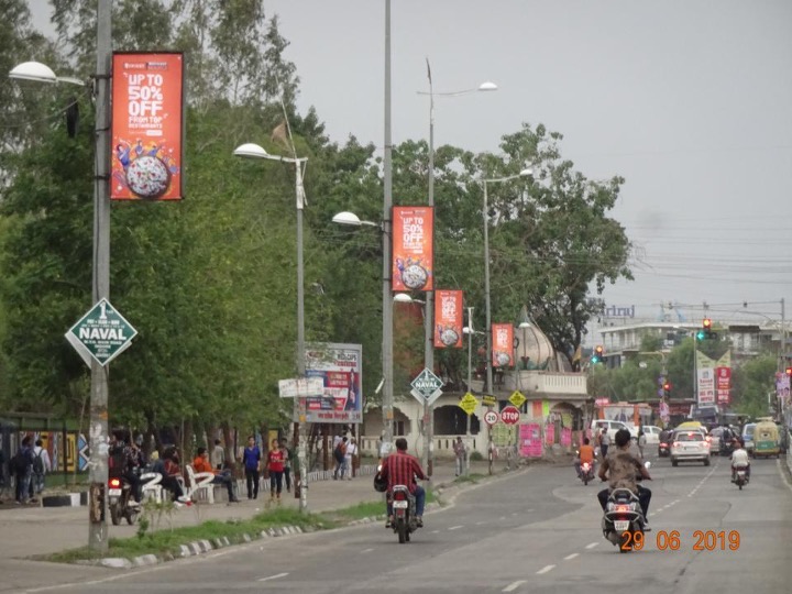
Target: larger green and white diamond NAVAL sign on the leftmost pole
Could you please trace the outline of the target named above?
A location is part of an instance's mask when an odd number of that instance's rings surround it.
[[[91,359],[105,366],[132,343],[138,330],[107,299],[101,299],[75,323],[66,340],[79,353],[86,365]]]

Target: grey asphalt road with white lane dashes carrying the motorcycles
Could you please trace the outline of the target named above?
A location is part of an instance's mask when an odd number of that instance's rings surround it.
[[[755,461],[738,491],[727,460],[654,460],[652,532],[620,554],[600,530],[600,484],[571,468],[534,466],[459,494],[413,542],[383,526],[284,537],[146,570],[62,580],[35,592],[530,592],[671,594],[792,590],[792,487],[776,460]],[[679,548],[662,550],[679,532]],[[694,550],[695,532],[712,534]],[[719,534],[723,532],[723,540]],[[729,535],[739,537],[729,550]],[[660,540],[660,542],[659,542]],[[723,549],[722,550],[722,543]],[[707,544],[712,550],[707,549]],[[105,570],[103,570],[105,571]],[[108,570],[109,571],[109,570]],[[30,592],[34,592],[33,590]]]

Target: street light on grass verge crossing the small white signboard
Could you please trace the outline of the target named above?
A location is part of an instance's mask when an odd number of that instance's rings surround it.
[[[289,163],[295,166],[295,197],[297,206],[297,376],[306,375],[306,358],[305,358],[305,271],[302,257],[302,210],[305,208],[305,187],[302,186],[304,167],[308,163],[307,158],[285,157],[280,155],[272,155],[267,153],[263,146],[255,143],[246,143],[238,146],[233,154],[245,158],[266,158],[270,161],[279,161]],[[297,404],[297,403],[295,403]],[[299,427],[299,420],[297,421]],[[297,459],[300,468],[300,512],[308,510],[308,484],[306,469],[306,451],[305,437],[298,435]]]

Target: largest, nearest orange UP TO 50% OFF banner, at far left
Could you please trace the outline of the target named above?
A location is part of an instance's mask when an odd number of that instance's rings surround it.
[[[112,81],[110,198],[180,200],[183,55],[113,54]]]

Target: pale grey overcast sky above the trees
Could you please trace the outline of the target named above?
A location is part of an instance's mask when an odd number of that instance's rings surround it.
[[[264,6],[300,109],[334,141],[382,146],[385,0]],[[590,178],[625,177],[613,216],[636,280],[608,287],[608,305],[656,318],[675,301],[697,320],[704,301],[716,319],[747,301],[778,318],[792,296],[791,30],[789,0],[393,0],[394,142],[428,136],[426,57],[437,92],[492,80],[437,100],[436,145],[497,152],[541,122]]]

